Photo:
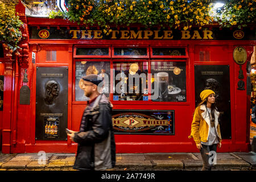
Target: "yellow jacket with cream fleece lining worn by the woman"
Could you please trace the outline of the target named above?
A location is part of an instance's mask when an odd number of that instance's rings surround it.
[[[215,110],[214,112],[215,121],[214,121],[214,127],[217,131],[217,137],[219,142],[221,142],[221,133],[220,133],[220,125],[218,123],[218,117],[220,116],[220,113]],[[196,144],[201,142],[207,142],[208,135],[210,133],[210,118],[209,114],[207,114],[206,106],[201,105],[199,107],[196,107],[193,121],[191,125],[191,135],[188,136],[188,138],[192,138],[195,140]]]

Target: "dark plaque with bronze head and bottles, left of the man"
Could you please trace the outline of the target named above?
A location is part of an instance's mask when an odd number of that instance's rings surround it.
[[[36,139],[66,140],[68,68],[36,69]]]

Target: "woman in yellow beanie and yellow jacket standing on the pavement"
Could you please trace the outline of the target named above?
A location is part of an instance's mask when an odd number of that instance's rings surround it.
[[[202,171],[210,171],[212,165],[209,163],[209,152],[221,147],[221,133],[218,118],[215,93],[213,90],[203,90],[200,93],[202,102],[196,107],[191,125],[191,135],[196,142],[196,147],[200,150],[203,159]]]

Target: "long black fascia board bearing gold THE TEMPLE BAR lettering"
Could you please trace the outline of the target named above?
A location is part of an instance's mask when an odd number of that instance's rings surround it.
[[[168,28],[113,28],[108,34],[104,30],[90,27],[30,27],[30,39],[80,39],[80,40],[255,40],[255,28],[243,30],[233,28],[191,28],[178,30]]]

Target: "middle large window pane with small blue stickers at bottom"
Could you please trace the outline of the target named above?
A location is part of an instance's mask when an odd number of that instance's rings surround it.
[[[114,62],[114,101],[148,101],[145,62]]]

